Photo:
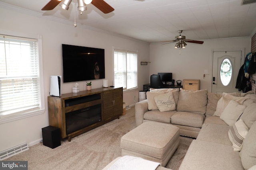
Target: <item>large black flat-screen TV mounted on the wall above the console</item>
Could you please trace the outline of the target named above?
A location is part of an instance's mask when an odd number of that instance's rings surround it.
[[[63,82],[105,78],[105,50],[62,44]]]

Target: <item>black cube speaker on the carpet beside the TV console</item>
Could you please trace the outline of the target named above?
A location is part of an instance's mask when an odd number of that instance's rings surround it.
[[[60,146],[60,128],[47,126],[42,128],[43,145],[49,148]]]

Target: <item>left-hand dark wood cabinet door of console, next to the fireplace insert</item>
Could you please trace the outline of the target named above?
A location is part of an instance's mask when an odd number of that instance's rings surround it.
[[[113,115],[113,106],[114,106],[114,100],[113,100],[113,92],[104,92],[103,93],[104,98],[104,120],[108,120]]]

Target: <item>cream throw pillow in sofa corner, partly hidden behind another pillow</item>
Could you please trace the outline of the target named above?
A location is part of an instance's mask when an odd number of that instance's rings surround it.
[[[216,111],[214,112],[213,115],[220,117],[221,113],[224,111],[225,107],[228,105],[228,102],[230,102],[230,100],[234,100],[238,104],[242,105],[244,101],[247,99],[247,97],[236,97],[227,93],[223,93],[222,98],[220,98],[220,100],[217,103]]]

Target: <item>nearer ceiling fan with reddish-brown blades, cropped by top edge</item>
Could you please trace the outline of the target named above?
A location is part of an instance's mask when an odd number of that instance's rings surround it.
[[[48,11],[53,10],[60,2],[62,4],[63,9],[68,10],[69,5],[72,0],[50,0],[48,4],[46,4],[42,10]],[[114,8],[112,8],[109,4],[107,4],[104,0],[78,0],[78,10],[84,11],[87,10],[86,4],[93,4],[96,8],[98,8],[100,11],[102,11],[104,14],[108,14],[112,11],[114,11]]]

